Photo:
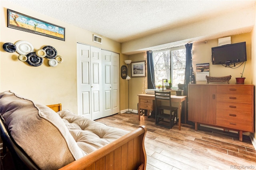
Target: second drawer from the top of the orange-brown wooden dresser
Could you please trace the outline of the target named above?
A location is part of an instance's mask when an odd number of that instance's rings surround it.
[[[240,94],[218,94],[216,95],[216,101],[218,102],[232,102],[232,103],[248,103],[252,104],[252,95],[240,95]]]

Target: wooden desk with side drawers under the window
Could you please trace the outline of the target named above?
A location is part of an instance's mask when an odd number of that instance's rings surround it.
[[[155,95],[151,95],[151,94],[141,94],[138,95],[139,97],[139,106],[138,106],[138,116],[139,116],[139,121],[140,121],[140,109],[145,109],[148,111],[152,111],[154,110],[154,100],[155,100]],[[180,126],[181,126],[181,103],[183,101],[186,101],[186,96],[176,96],[176,95],[171,95],[172,98],[172,102],[177,102],[179,103],[178,106],[178,118],[179,118],[179,130],[180,130]],[[186,107],[187,104],[186,102],[184,102],[184,107],[185,107],[185,122],[186,122]]]

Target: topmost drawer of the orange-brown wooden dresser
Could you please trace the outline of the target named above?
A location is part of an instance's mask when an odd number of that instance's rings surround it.
[[[216,93],[228,93],[230,95],[252,95],[252,86],[250,85],[219,85],[216,87]]]

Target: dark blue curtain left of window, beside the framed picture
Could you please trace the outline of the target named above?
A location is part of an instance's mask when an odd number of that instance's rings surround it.
[[[148,67],[148,89],[156,89],[155,71],[152,51],[147,51],[147,67]]]

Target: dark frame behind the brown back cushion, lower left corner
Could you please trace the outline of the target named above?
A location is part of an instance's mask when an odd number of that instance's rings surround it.
[[[0,115],[0,131],[1,138],[3,141],[4,147],[7,146],[8,150],[12,155],[14,166],[19,170],[39,170],[38,166],[34,163],[33,160],[24,152],[22,148],[14,141],[8,128],[6,127],[2,115]],[[4,149],[4,148],[3,148]]]

